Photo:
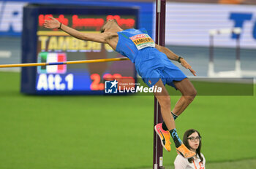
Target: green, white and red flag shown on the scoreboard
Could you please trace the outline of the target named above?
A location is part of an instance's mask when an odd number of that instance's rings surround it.
[[[38,63],[64,61],[67,61],[67,55],[64,52],[39,52],[38,54]],[[67,65],[38,66],[37,72],[39,74],[65,74],[67,72]]]

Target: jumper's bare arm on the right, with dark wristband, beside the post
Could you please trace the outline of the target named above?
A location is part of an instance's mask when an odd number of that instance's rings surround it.
[[[174,52],[172,52],[171,50],[169,50],[167,47],[162,47],[158,44],[156,44],[156,48],[157,50],[159,50],[160,52],[165,53],[165,55],[167,56],[167,58],[169,58],[170,60],[178,60],[178,55],[176,55]],[[189,63],[187,63],[187,61],[184,58],[181,58],[181,65],[184,66],[184,68],[189,69],[189,71],[191,71],[191,73],[196,76],[196,72],[192,69],[192,67],[189,65]]]

